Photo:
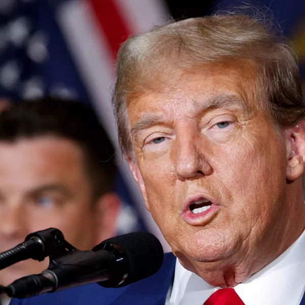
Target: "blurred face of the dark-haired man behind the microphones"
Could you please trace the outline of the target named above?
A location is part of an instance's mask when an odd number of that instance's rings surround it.
[[[103,238],[98,216],[76,144],[56,137],[0,141],[0,252],[49,227],[62,230],[76,248],[92,249]],[[0,271],[0,283],[7,285],[47,266],[48,259],[15,264]]]

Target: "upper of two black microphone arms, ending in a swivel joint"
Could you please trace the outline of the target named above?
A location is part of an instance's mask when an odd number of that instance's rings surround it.
[[[0,270],[29,258],[43,261],[47,256],[55,253],[64,253],[65,248],[73,251],[61,231],[49,228],[31,233],[24,242],[16,247],[0,253]]]

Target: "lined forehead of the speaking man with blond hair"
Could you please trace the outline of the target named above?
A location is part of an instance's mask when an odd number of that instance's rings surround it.
[[[130,123],[151,113],[186,115],[206,108],[236,107],[251,110],[258,105],[256,74],[242,65],[207,66],[182,74],[170,86],[143,91],[128,104]]]

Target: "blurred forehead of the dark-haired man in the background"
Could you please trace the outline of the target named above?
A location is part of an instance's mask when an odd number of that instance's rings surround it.
[[[0,176],[65,179],[81,174],[82,152],[70,140],[57,137],[0,141]]]

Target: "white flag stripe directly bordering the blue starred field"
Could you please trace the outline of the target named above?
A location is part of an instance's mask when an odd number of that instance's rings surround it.
[[[103,37],[103,31],[99,30],[94,20],[92,9],[85,1],[81,0],[65,3],[59,7],[57,12],[58,24],[62,28],[82,80],[109,138],[117,148],[117,133],[110,94],[110,86],[114,79],[112,54],[106,39]],[[119,158],[119,160],[121,159]],[[170,251],[158,226],[144,206],[142,195],[127,162],[125,160],[118,161],[118,164],[148,230],[158,236],[165,252]]]

